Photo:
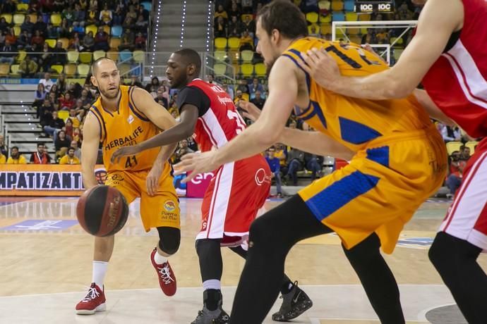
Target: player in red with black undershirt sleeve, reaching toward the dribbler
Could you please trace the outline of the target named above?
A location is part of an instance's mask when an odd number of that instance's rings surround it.
[[[181,49],[174,52],[167,66],[171,87],[179,89],[177,104],[181,122],[145,142],[122,147],[114,153],[112,161],[120,156],[179,142],[193,134],[201,151],[210,151],[212,147],[223,147],[245,129],[245,122],[228,94],[217,85],[198,78],[201,61],[196,51]],[[192,324],[227,323],[229,320],[222,309],[220,247],[230,247],[239,256],[246,257],[248,229],[269,189],[270,169],[260,154],[215,170],[215,177],[203,198],[202,227],[196,237],[204,292],[203,310]],[[273,314],[273,320],[291,320],[313,305],[306,293],[286,275],[281,293],[282,306]]]

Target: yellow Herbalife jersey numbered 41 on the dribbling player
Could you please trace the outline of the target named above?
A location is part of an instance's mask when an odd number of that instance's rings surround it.
[[[160,148],[148,149],[134,156],[124,156],[119,163],[110,163],[110,158],[116,149],[128,145],[136,145],[157,135],[160,130],[135,104],[133,104],[134,87],[120,86],[120,101],[116,111],[103,108],[101,97],[90,108],[90,113],[100,123],[100,142],[102,142],[103,163],[107,172],[140,171],[152,168],[159,154]],[[161,107],[162,108],[162,107]],[[163,176],[171,170],[169,163],[164,166]]]

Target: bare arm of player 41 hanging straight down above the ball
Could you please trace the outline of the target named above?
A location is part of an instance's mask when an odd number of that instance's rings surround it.
[[[95,178],[95,164],[97,163],[100,137],[100,123],[93,113],[88,113],[83,125],[83,146],[81,147],[81,173],[86,189],[98,185]]]

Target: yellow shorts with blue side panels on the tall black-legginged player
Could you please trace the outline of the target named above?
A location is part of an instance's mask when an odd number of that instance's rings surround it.
[[[378,138],[299,196],[351,249],[373,232],[392,253],[417,208],[445,180],[447,153],[434,127]]]

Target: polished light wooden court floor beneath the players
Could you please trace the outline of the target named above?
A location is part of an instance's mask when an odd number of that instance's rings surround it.
[[[116,235],[105,280],[107,311],[77,316],[74,306],[90,285],[93,239],[76,221],[73,198],[0,197],[0,323],[190,323],[202,306],[194,237],[200,228],[200,199],[181,199],[181,248],[169,260],[178,292],[159,289],[149,254],[157,232],[145,233],[138,201]],[[267,201],[265,208],[281,201]],[[461,324],[450,293],[428,261],[427,251],[448,201],[428,201],[404,228],[397,249],[385,256],[401,289],[408,323]],[[224,309],[230,311],[244,261],[223,250]],[[487,258],[480,263],[487,269]],[[287,258],[292,280],[314,306],[294,323],[379,323],[335,235],[300,242]],[[258,296],[255,297],[258,302]],[[280,299],[273,311],[279,308]],[[272,323],[270,317],[265,323]]]

